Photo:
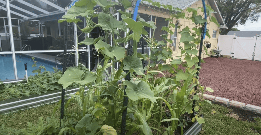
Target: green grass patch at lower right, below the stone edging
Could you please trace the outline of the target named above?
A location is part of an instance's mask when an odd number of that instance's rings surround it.
[[[212,110],[216,112],[212,114]],[[231,111],[220,105],[206,104],[201,109],[205,124],[199,135],[259,135],[261,133],[260,118],[256,118],[256,122],[236,120],[226,115]]]

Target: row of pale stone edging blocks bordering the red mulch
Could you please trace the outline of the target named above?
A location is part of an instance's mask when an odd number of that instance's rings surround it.
[[[207,94],[203,94],[203,96],[204,96],[205,99],[210,100],[212,102],[222,103],[222,104],[227,105],[227,106],[233,106],[233,107],[236,107],[236,108],[241,108],[241,109],[246,110],[246,111],[251,111],[251,112],[254,112],[254,113],[261,114],[261,107],[259,107],[259,106],[254,106],[254,105],[250,105],[250,104],[246,105],[245,103],[241,103],[241,102],[238,102],[238,101],[234,101],[234,100],[229,101],[229,99],[225,99],[223,97],[215,97],[215,96],[207,95]]]

